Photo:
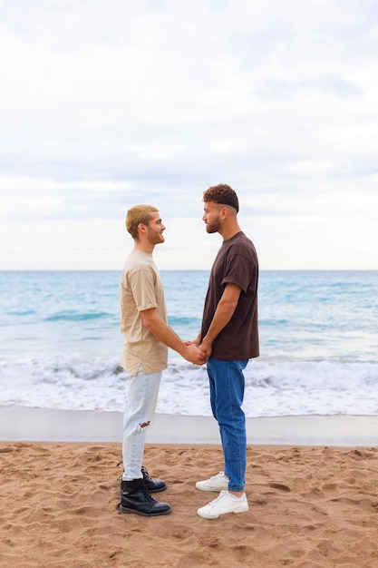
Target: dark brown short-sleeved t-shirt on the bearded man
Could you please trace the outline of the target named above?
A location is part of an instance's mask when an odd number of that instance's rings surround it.
[[[201,338],[208,331],[226,285],[236,284],[242,290],[232,318],[213,342],[211,357],[222,361],[258,357],[257,283],[257,252],[240,231],[223,241],[210,273]]]

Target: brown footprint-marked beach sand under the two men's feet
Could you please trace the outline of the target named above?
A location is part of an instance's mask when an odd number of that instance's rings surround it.
[[[95,419],[96,413],[90,415]],[[47,434],[54,432],[44,423],[44,413],[31,416],[30,434],[44,425],[46,441],[28,439],[24,431],[24,440],[2,437],[0,442],[2,567],[378,565],[375,446],[337,444],[338,431],[333,446],[248,443],[249,511],[209,521],[196,511],[217,494],[198,491],[195,482],[221,469],[220,446],[211,436],[199,444],[150,441],[144,465],[166,480],[167,491],[155,496],[170,503],[172,514],[146,519],[119,513],[121,441],[48,441]],[[65,421],[66,432],[69,423],[77,429],[70,413],[63,413],[65,419],[54,411],[52,416],[61,429]],[[113,417],[114,426],[118,418]],[[285,422],[281,429],[287,433]],[[298,422],[299,417],[290,426],[293,432]],[[354,421],[348,422],[352,432]],[[203,422],[191,418],[190,423],[195,436],[196,424],[202,429]],[[158,433],[162,425],[170,430],[164,416]],[[267,423],[267,438],[271,427]],[[343,436],[339,440],[347,442]]]

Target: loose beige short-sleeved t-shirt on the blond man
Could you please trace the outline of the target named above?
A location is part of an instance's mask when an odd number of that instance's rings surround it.
[[[132,250],[120,282],[121,367],[131,376],[141,366],[144,374],[159,373],[168,366],[168,348],[143,325],[141,311],[156,308],[167,323],[167,308],[159,271],[151,254]]]

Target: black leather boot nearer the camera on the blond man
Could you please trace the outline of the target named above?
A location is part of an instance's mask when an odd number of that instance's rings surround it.
[[[149,490],[144,485],[143,478],[124,481],[124,489],[121,494],[121,513],[136,513],[142,516],[158,516],[170,514],[170,505],[160,503],[151,497]]]

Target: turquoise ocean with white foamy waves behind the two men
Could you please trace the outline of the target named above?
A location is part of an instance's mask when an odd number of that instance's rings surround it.
[[[197,337],[205,270],[161,270],[170,326]],[[123,411],[121,271],[0,272],[0,406]],[[378,415],[378,271],[260,272],[246,416]],[[170,352],[157,411],[211,416],[206,367]]]

